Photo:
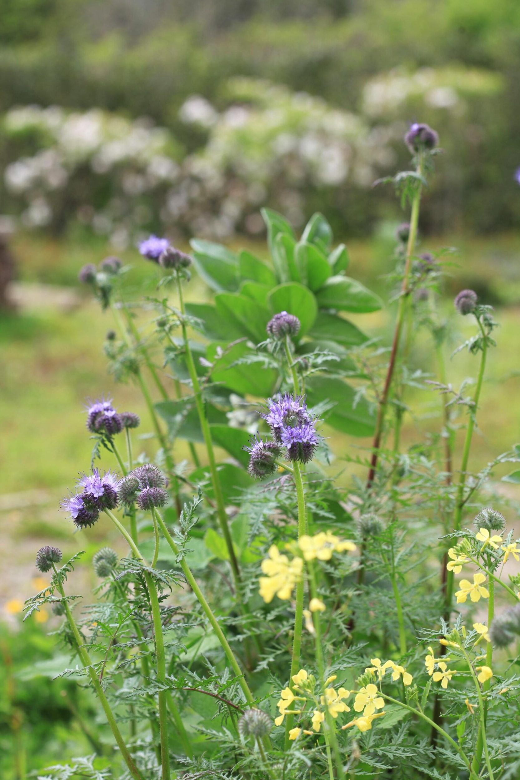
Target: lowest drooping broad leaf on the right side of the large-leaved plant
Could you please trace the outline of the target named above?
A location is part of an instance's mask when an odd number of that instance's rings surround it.
[[[373,434],[375,414],[372,406],[364,398],[356,399],[354,388],[343,380],[311,377],[307,383],[307,399],[311,406],[325,400],[334,402],[331,411],[324,413],[324,420],[336,431],[351,436]]]

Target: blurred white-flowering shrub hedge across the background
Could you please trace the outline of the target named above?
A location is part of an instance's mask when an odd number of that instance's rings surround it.
[[[316,209],[333,224],[348,211],[351,225],[363,225],[373,218],[366,190],[396,165],[404,120],[426,113],[442,143],[439,115],[456,119],[473,95],[497,89],[495,76],[476,70],[393,71],[366,84],[355,114],[264,80],[234,79],[225,85],[227,108],[197,95],[182,105],[179,118],[202,139],[192,154],[147,119],[13,108],[0,125],[2,210],[53,232],[80,222],[119,250],[150,230],[254,236],[264,230],[264,204],[297,226]]]

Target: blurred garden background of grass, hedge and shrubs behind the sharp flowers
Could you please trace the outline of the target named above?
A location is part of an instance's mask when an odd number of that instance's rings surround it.
[[[409,165],[408,123],[429,122],[444,153],[423,204],[421,249],[459,250],[440,303],[451,344],[472,335],[451,303],[462,287],[492,303],[501,324],[472,466],[520,439],[520,5],[0,0],[0,20],[0,264],[12,275],[11,308],[4,301],[0,314],[0,775],[11,780],[90,749],[81,725],[90,700],[51,683],[51,615],[23,629],[19,617],[41,587],[41,544],[65,556],[91,555],[101,541],[117,547],[104,527],[73,536],[58,511],[90,463],[81,405],[111,393],[150,430],[136,389],[107,373],[101,347],[112,322],[78,286],[83,264],[119,254],[138,288],[150,265],[134,246],[147,232],[264,256],[262,205],[297,228],[319,210],[348,243],[349,273],[387,300],[405,215],[390,187],[372,185]],[[190,283],[191,300],[207,296]],[[388,340],[392,317],[384,310],[359,324]],[[413,359],[431,370],[426,335]],[[474,372],[472,356],[448,363],[455,387]],[[420,413],[407,418],[405,443],[438,425],[437,395],[411,400]],[[338,456],[365,444],[332,441]],[[139,447],[153,452],[147,438]],[[177,455],[188,453],[179,445]],[[76,590],[93,584],[88,576],[74,575]]]

